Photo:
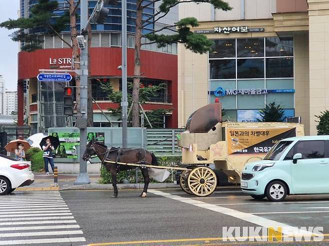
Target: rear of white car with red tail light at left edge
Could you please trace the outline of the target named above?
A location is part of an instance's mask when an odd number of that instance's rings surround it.
[[[31,165],[0,154],[0,195],[13,192],[17,187],[28,186],[34,182]]]

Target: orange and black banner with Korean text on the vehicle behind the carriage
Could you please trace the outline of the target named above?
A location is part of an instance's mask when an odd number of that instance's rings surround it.
[[[281,139],[295,136],[296,128],[227,127],[227,154],[265,154]]]

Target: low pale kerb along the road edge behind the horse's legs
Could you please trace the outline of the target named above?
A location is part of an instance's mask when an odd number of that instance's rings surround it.
[[[141,190],[144,184],[117,184],[118,190]],[[153,183],[148,185],[148,189],[168,189],[168,188],[179,188],[178,185],[173,183]],[[65,187],[61,186],[59,190],[113,190],[111,184],[86,184]]]

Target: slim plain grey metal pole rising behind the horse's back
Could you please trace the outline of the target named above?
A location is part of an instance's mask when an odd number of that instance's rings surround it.
[[[122,99],[121,99],[121,111],[122,111],[122,148],[127,148],[127,2],[121,0],[121,19],[122,19]]]

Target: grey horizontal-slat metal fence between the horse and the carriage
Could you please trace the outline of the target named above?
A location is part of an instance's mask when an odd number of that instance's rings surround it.
[[[177,146],[177,134],[184,129],[147,129],[147,147],[156,156],[180,156],[181,151]]]

